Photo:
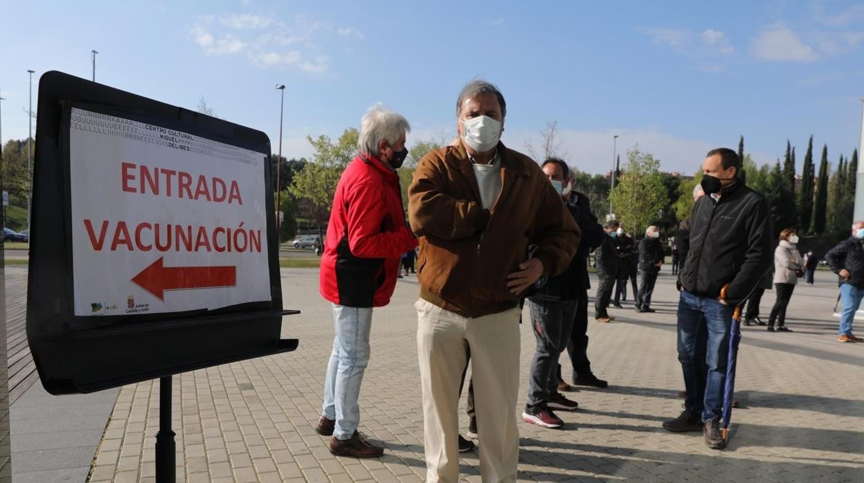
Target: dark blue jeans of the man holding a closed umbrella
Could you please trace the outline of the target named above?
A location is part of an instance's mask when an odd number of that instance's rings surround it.
[[[687,290],[678,299],[678,360],[687,390],[684,408],[701,412],[705,423],[722,414],[734,309]]]

